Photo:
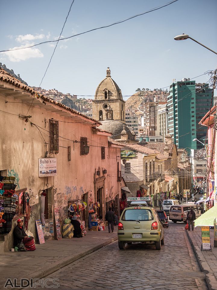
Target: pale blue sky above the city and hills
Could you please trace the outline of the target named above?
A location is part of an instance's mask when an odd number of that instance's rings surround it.
[[[168,3],[169,0],[75,0],[63,37],[124,20]],[[59,37],[72,0],[1,2],[0,50],[23,47]],[[13,7],[13,9],[11,9]],[[55,43],[0,53],[0,62],[30,86],[93,98],[110,67],[122,95],[137,88],[164,88],[172,80],[208,82],[217,68],[217,55],[187,39],[185,33],[217,51],[216,0],[178,0],[171,5],[112,27],[61,40],[46,75]],[[195,78],[197,77],[197,78]],[[124,98],[125,100],[127,97]]]

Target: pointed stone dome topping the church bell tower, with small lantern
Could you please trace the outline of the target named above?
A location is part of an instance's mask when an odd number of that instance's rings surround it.
[[[118,87],[116,82],[111,78],[111,71],[109,67],[106,70],[106,77],[99,83],[96,88],[94,100],[104,100],[105,94],[107,99],[120,99],[123,100],[121,89]]]

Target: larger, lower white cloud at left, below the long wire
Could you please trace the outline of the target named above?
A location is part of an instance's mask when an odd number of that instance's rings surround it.
[[[23,47],[23,46],[21,46]],[[19,48],[13,47],[12,49]],[[36,58],[36,57],[43,57],[43,53],[35,47],[20,49],[20,50],[13,50],[13,51],[6,51],[1,53],[4,56],[8,56],[8,59],[11,62],[19,62],[21,60],[28,60],[29,58]]]

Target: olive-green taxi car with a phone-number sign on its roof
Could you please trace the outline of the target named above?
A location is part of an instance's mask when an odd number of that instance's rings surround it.
[[[160,221],[156,210],[147,205],[124,208],[118,224],[118,247],[123,250],[125,244],[142,242],[153,244],[156,250],[164,244],[163,220]]]

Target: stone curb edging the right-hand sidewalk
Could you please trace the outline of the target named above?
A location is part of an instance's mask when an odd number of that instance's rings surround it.
[[[196,254],[197,261],[200,265],[200,269],[202,270],[202,272],[205,273],[205,279],[206,279],[206,283],[208,285],[209,290],[217,290],[217,281],[215,279],[212,269],[209,267],[209,264],[206,262],[200,248],[198,246],[195,246],[197,245],[195,239],[193,237],[190,237],[190,234],[188,233],[187,230],[186,232],[190,240],[190,243],[193,247],[194,253]]]

